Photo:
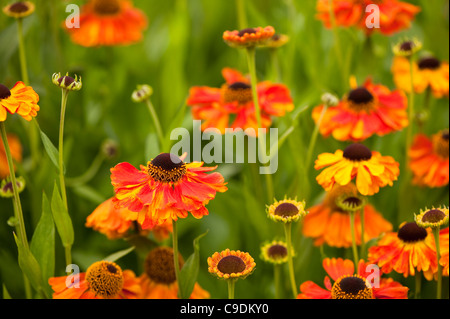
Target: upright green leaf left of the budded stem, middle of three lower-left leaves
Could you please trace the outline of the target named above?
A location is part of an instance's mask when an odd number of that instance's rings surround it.
[[[30,250],[41,267],[44,283],[47,283],[48,278],[55,273],[55,224],[45,193],[42,194],[42,214],[34,230]],[[50,293],[50,286],[44,284],[44,287]]]

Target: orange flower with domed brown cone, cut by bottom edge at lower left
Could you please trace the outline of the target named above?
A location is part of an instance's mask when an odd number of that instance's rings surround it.
[[[137,299],[141,288],[131,270],[124,270],[114,262],[98,261],[85,273],[52,277],[53,299]]]

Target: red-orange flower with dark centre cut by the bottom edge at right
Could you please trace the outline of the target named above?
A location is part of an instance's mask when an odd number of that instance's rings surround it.
[[[334,281],[325,277],[325,289],[312,281],[300,286],[301,293],[297,299],[407,299],[408,288],[392,278],[380,278],[379,286],[369,282],[372,275],[368,264],[359,261],[355,267],[351,260],[342,258],[325,258],[323,268]],[[378,284],[378,283],[377,283]]]

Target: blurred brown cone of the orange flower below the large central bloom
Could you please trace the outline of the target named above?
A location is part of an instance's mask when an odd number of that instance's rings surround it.
[[[180,268],[183,260],[179,256]],[[153,249],[145,259],[145,273],[156,283],[169,285],[176,281],[173,250],[169,247]]]

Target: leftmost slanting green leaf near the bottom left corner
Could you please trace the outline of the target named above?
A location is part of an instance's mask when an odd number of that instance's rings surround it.
[[[16,241],[19,251],[18,260],[20,269],[22,269],[23,273],[30,281],[31,286],[33,286],[36,291],[45,295],[42,285],[42,272],[39,263],[31,253],[31,250],[23,245],[22,241],[17,238],[15,233],[14,240]]]

